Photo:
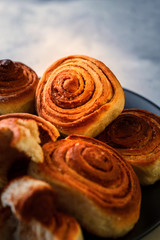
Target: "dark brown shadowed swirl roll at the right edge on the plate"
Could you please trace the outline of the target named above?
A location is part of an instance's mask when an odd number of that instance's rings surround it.
[[[141,184],[160,179],[160,117],[126,109],[98,137],[114,147],[134,168]]]

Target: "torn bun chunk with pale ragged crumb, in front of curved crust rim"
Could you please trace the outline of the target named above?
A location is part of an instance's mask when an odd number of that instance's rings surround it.
[[[37,123],[27,119],[0,121],[0,189],[26,174],[29,161],[43,162]]]

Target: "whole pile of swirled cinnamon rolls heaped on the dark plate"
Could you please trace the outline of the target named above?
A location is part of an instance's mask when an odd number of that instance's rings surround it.
[[[88,56],[59,59],[38,81],[10,60],[0,71],[1,237],[82,239],[80,226],[127,234],[140,216],[140,183],[160,178],[160,117],[124,110],[119,81]]]

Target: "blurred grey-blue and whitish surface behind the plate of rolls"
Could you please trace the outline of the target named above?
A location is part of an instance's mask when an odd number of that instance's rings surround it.
[[[0,58],[39,76],[55,60],[103,61],[123,87],[160,106],[159,0],[0,0]],[[144,240],[160,238],[156,229]]]

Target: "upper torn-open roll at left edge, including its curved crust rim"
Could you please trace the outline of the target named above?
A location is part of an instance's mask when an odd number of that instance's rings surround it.
[[[53,125],[32,114],[0,116],[0,189],[8,179],[27,173],[30,160],[42,162],[41,144],[58,136]]]

